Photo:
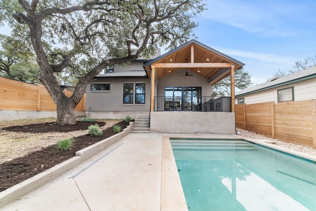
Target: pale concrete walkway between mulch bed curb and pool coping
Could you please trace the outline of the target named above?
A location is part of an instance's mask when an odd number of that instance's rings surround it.
[[[162,134],[130,133],[1,211],[160,211]]]

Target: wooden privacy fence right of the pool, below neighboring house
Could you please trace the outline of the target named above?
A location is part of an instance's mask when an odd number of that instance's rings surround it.
[[[236,104],[236,127],[316,148],[316,99]]]

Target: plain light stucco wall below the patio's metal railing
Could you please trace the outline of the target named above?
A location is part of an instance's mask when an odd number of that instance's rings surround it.
[[[151,132],[235,134],[234,112],[151,112]]]

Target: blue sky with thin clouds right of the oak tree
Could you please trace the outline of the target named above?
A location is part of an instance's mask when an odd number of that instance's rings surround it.
[[[316,0],[206,0],[197,41],[245,63],[254,84],[316,55]]]

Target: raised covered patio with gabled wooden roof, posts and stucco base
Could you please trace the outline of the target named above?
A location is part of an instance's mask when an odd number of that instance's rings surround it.
[[[235,133],[234,75],[235,70],[243,65],[196,40],[191,40],[144,64],[144,69],[151,79],[151,131]],[[229,101],[228,108],[226,104],[226,108],[222,109],[224,101],[216,105],[214,100],[221,99],[211,98],[211,85],[229,75],[231,96],[225,98],[225,102]],[[198,114],[197,111],[201,113]],[[215,114],[211,111],[221,112]],[[172,127],[171,124],[177,127]]]

